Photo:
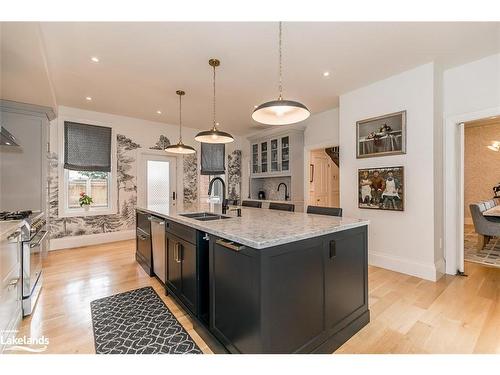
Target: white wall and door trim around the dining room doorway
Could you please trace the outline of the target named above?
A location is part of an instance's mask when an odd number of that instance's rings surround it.
[[[500,115],[500,54],[443,74],[446,272],[463,271],[461,140],[458,124]]]

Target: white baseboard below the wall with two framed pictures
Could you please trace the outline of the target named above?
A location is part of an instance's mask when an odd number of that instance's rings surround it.
[[[444,269],[444,262],[443,265],[421,263],[378,251],[368,252],[368,263],[371,266],[386,268],[430,281],[437,281],[441,277],[437,269],[438,266]]]

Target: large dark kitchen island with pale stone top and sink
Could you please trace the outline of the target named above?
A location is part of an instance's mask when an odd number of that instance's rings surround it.
[[[164,220],[167,293],[231,353],[332,353],[369,322],[365,220],[217,205],[137,214]]]

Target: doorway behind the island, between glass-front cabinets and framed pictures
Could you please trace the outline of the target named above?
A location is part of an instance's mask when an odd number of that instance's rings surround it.
[[[310,206],[340,207],[339,147],[314,149],[309,154]]]

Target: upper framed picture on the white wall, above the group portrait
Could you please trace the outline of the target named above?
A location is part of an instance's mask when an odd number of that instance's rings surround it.
[[[406,154],[406,111],[356,122],[356,157]]]

